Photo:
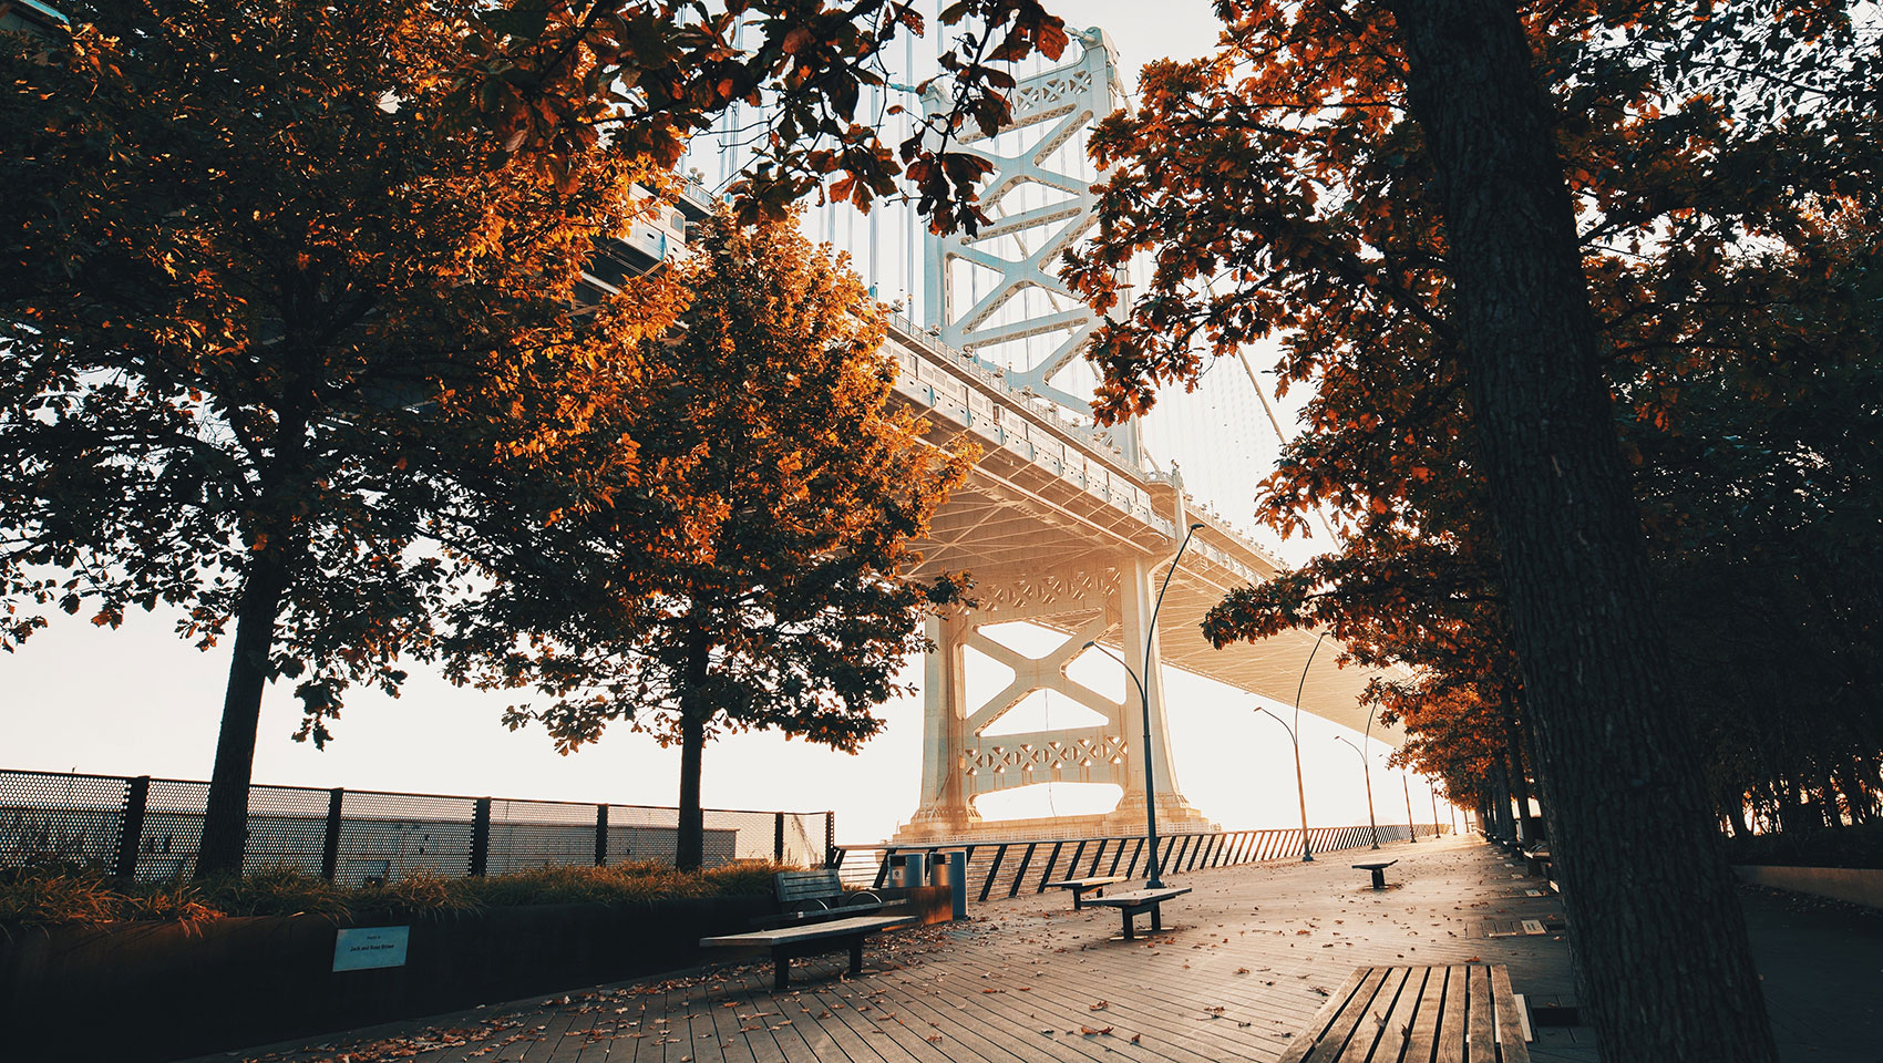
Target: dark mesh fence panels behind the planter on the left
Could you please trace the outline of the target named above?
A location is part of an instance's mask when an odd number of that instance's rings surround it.
[[[62,862],[134,879],[190,875],[209,783],[0,771],[0,867]],[[832,813],[706,809],[704,864],[823,864]],[[678,809],[386,790],[249,790],[243,867],[292,867],[345,886],[550,865],[672,864]]]

